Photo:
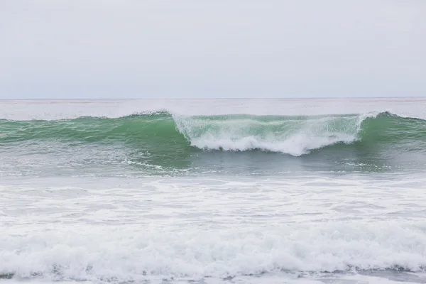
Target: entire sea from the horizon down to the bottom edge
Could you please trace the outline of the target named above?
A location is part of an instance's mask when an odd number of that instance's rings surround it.
[[[426,283],[426,99],[0,100],[0,283]]]

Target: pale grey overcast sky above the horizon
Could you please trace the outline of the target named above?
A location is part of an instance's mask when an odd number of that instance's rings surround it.
[[[426,96],[425,0],[1,0],[0,98]]]

